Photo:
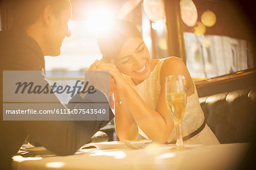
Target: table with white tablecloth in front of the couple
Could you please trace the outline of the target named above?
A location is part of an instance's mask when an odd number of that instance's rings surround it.
[[[235,169],[249,143],[190,146],[183,151],[171,145],[141,150],[88,149],[71,156],[13,157],[13,169]]]

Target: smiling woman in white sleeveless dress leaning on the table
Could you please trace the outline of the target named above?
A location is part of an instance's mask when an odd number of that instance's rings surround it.
[[[113,25],[114,28],[98,36],[103,60],[96,61],[92,66],[109,71],[114,78],[115,130],[119,139],[136,140],[141,134],[161,143],[176,140],[174,122],[166,106],[164,82],[168,75],[182,74],[188,96],[183,137],[189,139],[184,143],[219,143],[204,124],[195,84],[183,61],[177,57],[151,59],[134,24],[117,19]]]

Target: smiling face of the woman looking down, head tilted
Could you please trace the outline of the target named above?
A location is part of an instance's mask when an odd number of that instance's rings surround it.
[[[150,53],[142,38],[129,38],[123,44],[115,63],[119,71],[139,84],[150,76]]]

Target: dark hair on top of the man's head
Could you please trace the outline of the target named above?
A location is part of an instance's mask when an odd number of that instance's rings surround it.
[[[35,23],[45,6],[51,5],[55,15],[59,15],[64,8],[63,0],[13,0],[11,9],[13,13],[13,25],[27,27]]]

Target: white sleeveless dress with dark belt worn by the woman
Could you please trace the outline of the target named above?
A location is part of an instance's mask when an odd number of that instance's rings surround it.
[[[156,108],[160,94],[160,70],[162,68],[164,59],[160,60],[156,64],[154,70],[151,72],[150,76],[144,80],[141,84],[134,86],[133,88],[141,96],[143,101],[147,103],[151,109]],[[126,77],[127,78],[127,77]],[[131,80],[131,79],[130,79]],[[196,131],[204,122],[204,113],[201,109],[198,94],[196,91],[196,86],[194,84],[195,90],[191,96],[187,97],[187,106],[185,109],[185,114],[182,122],[183,126],[183,137],[191,134]],[[147,138],[147,135],[139,128],[139,134],[144,138]],[[168,142],[176,140],[176,130],[172,130],[171,135],[168,138]],[[192,138],[185,140],[185,144],[219,144],[218,139],[210,130],[208,125],[205,125],[204,129],[197,135]]]

